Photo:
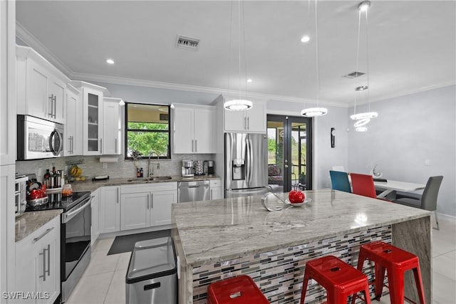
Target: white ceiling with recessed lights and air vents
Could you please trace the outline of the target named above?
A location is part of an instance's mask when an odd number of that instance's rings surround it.
[[[315,1],[244,1],[242,90],[247,75],[249,94],[267,100],[319,96],[322,104],[352,106],[355,98],[366,103],[456,83],[456,1],[373,0],[367,49],[361,23],[358,67],[367,71],[368,53],[368,77],[342,77],[356,70],[358,4],[318,1],[318,90]],[[18,0],[16,19],[19,38],[70,78],[227,93],[239,89],[237,5]],[[311,41],[301,43],[306,33]],[[198,51],[176,48],[177,34],[199,38]],[[369,99],[354,90],[367,81]]]

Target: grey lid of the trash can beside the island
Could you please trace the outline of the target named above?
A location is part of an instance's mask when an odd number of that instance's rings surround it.
[[[128,284],[136,283],[176,272],[174,244],[167,236],[135,243],[125,281]]]

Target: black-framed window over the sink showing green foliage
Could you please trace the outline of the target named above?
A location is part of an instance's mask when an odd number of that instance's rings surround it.
[[[125,159],[170,159],[170,106],[125,103]]]

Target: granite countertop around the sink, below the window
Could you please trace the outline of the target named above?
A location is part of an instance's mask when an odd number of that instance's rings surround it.
[[[159,176],[156,176],[159,177]],[[189,181],[201,181],[207,179],[219,179],[217,175],[199,175],[196,177],[181,177],[180,175],[171,176],[171,179],[162,180],[150,180],[146,177],[130,177],[130,178],[112,178],[107,180],[98,181],[85,181],[85,182],[72,182],[71,187],[73,191],[90,191],[94,192],[99,187],[104,186],[120,186],[121,184],[151,184],[161,182],[189,182]]]

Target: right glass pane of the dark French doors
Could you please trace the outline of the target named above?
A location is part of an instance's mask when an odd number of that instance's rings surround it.
[[[301,184],[306,189],[307,157],[306,123],[291,123],[291,184]]]

